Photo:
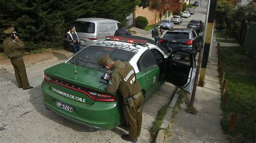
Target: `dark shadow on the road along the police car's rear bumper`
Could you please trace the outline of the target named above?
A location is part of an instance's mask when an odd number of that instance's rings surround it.
[[[55,121],[58,124],[72,128],[73,130],[78,131],[78,132],[93,132],[93,131],[95,131],[95,130],[92,130],[91,128],[86,127],[85,125],[70,121],[62,116],[57,115],[57,113],[46,109],[43,104],[43,94],[42,94],[40,85],[32,88],[29,91],[29,95],[30,95],[29,101],[31,102],[31,104],[35,107],[36,111],[41,113],[41,115],[43,115],[44,117],[46,117],[52,121]]]

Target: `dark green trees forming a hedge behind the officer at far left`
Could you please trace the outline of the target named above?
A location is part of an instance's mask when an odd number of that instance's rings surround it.
[[[0,31],[14,26],[26,51],[59,47],[77,18],[109,18],[125,25],[134,8],[133,0],[0,0]],[[0,42],[4,39],[1,34]]]

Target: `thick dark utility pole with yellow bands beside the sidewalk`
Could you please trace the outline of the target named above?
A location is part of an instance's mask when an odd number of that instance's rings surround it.
[[[198,86],[200,87],[204,86],[207,61],[208,61],[208,56],[209,56],[209,51],[210,51],[210,46],[212,41],[213,23],[214,23],[216,5],[217,5],[217,0],[210,0],[210,5],[208,5],[208,8],[207,8],[208,20],[207,20],[206,33],[205,33],[204,53],[203,53],[203,59],[201,62],[201,70],[200,70],[200,76],[199,76],[199,82],[198,82]]]

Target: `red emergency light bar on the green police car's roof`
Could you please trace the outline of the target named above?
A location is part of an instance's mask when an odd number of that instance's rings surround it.
[[[140,39],[132,39],[132,38],[124,38],[124,37],[118,37],[118,36],[106,36],[106,40],[113,40],[113,41],[121,41],[121,42],[130,42],[133,44],[139,44],[139,45],[145,45],[147,44],[146,40],[140,40]]]

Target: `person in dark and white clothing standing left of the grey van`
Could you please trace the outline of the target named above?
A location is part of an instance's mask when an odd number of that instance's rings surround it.
[[[80,50],[80,40],[75,26],[71,26],[70,31],[66,32],[66,41],[69,42],[69,47],[73,50],[74,54]]]

